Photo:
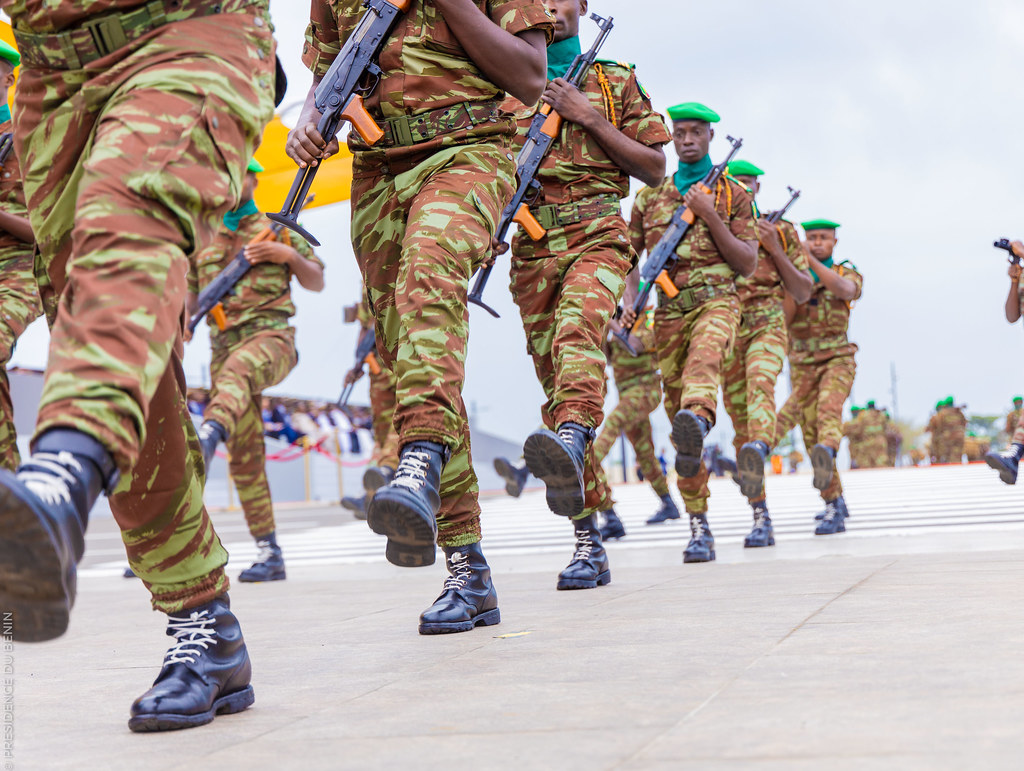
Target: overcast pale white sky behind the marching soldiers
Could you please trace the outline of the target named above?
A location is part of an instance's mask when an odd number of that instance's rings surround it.
[[[303,0],[271,1],[288,102],[309,84],[299,60],[306,9]],[[615,17],[605,53],[636,62],[656,109],[697,100],[722,115],[713,158],[726,133],[743,138],[742,156],[767,172],[763,206],[779,205],[793,185],[804,192],[796,220],[843,223],[837,258],[865,276],[851,330],[858,402],[892,404],[894,362],[903,418],[924,422],[947,394],[972,412],[1009,408],[1024,390],[1024,340],[1004,319],[1006,261],[991,243],[1024,238],[1024,3],[601,0],[591,10]],[[585,46],[593,29],[583,27]],[[672,167],[671,146],[669,155]],[[321,295],[296,289],[300,360],[274,390],[334,398],[355,339],[340,324],[358,292],[348,204],[304,221],[325,244],[328,286]],[[501,319],[473,310],[465,396],[481,427],[521,438],[543,396],[506,285],[496,274],[488,288]],[[14,362],[45,358],[37,326]],[[189,382],[203,380],[208,361],[198,336]],[[366,399],[365,384],[356,399]],[[658,426],[667,445],[664,415]]]

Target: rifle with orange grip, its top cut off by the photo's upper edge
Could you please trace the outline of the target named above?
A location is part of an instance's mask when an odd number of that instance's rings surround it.
[[[377,57],[398,20],[398,14],[407,11],[412,3],[413,0],[362,0],[366,13],[313,91],[313,101],[322,116],[316,130],[325,142],[330,143],[334,139],[342,121],[352,124],[362,141],[370,146],[384,136],[381,127],[364,106],[364,94],[377,88],[381,79]],[[281,212],[266,215],[295,230],[314,247],[318,247],[319,242],[299,224],[299,211],[319,167],[321,164],[315,163],[299,169]]]

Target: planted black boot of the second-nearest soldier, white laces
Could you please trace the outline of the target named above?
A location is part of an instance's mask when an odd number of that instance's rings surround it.
[[[498,593],[480,544],[443,548],[449,576],[434,604],[420,613],[420,634],[446,635],[499,624]]]

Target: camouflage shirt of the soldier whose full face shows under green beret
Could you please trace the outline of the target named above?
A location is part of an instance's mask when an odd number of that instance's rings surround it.
[[[758,231],[754,220],[754,202],[738,182],[723,178],[715,189],[715,210],[730,232],[741,241],[757,243]],[[630,219],[630,242],[637,254],[651,251],[669,226],[676,209],[683,205],[672,176],[657,187],[644,187],[637,194]],[[680,289],[735,286],[736,271],[732,269],[715,246],[711,229],[697,217],[686,238],[676,248],[679,261],[670,273]],[[660,289],[658,289],[660,294]]]

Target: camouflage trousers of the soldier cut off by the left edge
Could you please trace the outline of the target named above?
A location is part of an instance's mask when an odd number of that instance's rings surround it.
[[[14,405],[10,399],[7,362],[22,333],[43,312],[33,272],[33,249],[29,246],[0,250],[0,467],[17,468]]]

